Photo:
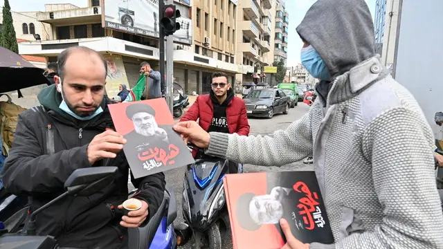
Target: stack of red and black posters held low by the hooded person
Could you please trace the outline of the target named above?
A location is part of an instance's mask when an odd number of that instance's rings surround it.
[[[302,243],[334,243],[314,172],[227,174],[224,190],[234,248],[282,248],[281,218]]]

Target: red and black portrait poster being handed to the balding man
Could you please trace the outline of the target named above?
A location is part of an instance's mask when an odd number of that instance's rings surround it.
[[[110,104],[109,111],[116,131],[127,140],[123,151],[135,178],[194,163],[172,129],[174,119],[163,98]]]

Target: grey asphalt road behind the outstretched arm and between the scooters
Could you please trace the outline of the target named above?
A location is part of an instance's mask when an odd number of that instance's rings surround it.
[[[271,120],[265,118],[250,118],[249,125],[251,125],[251,133],[250,135],[258,136],[258,135],[269,135],[273,133],[273,131],[278,129],[285,129],[288,127],[291,122],[301,118],[303,114],[305,114],[309,110],[307,104],[302,102],[298,103],[298,106],[290,109],[287,115],[276,114]],[[294,168],[298,168],[297,170],[312,170],[311,165],[305,165],[301,161],[296,163],[291,163],[289,165],[284,165],[282,167],[263,167],[257,165],[244,165],[244,172],[281,172],[281,171],[290,171]],[[174,187],[174,192],[176,194],[177,199],[177,219],[176,223],[183,222],[183,215],[181,211],[181,192],[183,191],[183,176],[185,174],[185,168],[181,167],[178,169],[172,169],[168,172],[165,172],[166,182],[169,185]],[[224,249],[233,248],[232,241],[230,236],[223,241]],[[192,241],[189,241],[185,246],[181,247],[185,249],[192,248]]]

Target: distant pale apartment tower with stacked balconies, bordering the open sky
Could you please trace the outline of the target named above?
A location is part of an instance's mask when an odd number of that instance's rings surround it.
[[[274,61],[283,60],[287,62],[288,53],[288,33],[289,33],[289,13],[285,10],[284,0],[275,2],[275,32],[274,32]]]

